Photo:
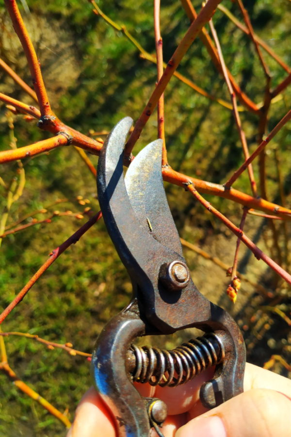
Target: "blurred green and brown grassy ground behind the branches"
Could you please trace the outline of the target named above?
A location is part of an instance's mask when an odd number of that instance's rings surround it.
[[[291,66],[291,3],[287,0],[247,0],[243,3],[255,32]],[[141,59],[139,51],[124,34],[114,31],[102,17],[94,15],[92,5],[87,1],[29,0],[27,3],[18,2],[18,5],[40,59],[52,109],[62,121],[88,134],[92,130],[109,131],[125,116],[134,120],[139,117],[155,87],[156,66]],[[226,0],[223,5],[242,22],[235,4]],[[100,1],[98,6],[112,20],[124,24],[145,50],[155,52],[152,2],[126,0],[121,4],[109,0]],[[194,6],[200,9],[198,1],[194,1]],[[220,10],[216,11],[213,22],[227,67],[253,101],[263,101],[264,74],[250,39]],[[0,25],[2,59],[31,85],[26,59],[3,1],[0,1]],[[161,33],[165,62],[170,59],[188,26],[189,20],[179,1],[162,2]],[[265,51],[262,50],[262,53],[270,67],[272,86],[275,87],[286,76],[286,72]],[[178,71],[209,94],[229,101],[226,84],[198,38]],[[3,71],[0,71],[0,83],[1,92],[34,104]],[[197,94],[175,77],[167,86],[164,98],[169,164],[189,176],[213,183],[226,182],[243,162],[231,111]],[[286,114],[290,102],[291,92],[287,88],[279,101],[271,106],[269,130]],[[1,150],[9,148],[11,135],[6,112],[5,105],[1,104]],[[249,149],[253,151],[256,148],[258,117],[243,111],[241,118]],[[37,121],[27,123],[21,116],[13,116],[13,119],[17,147],[51,136],[36,127]],[[136,154],[156,136],[155,112],[133,153]],[[267,192],[270,201],[280,203],[275,150],[280,159],[287,206],[290,207],[291,132],[288,125],[275,137],[267,151]],[[97,157],[90,155],[90,159],[97,166]],[[23,160],[23,165],[26,185],[22,196],[12,205],[7,225],[35,210],[46,208],[57,199],[66,198],[68,201],[48,207],[50,213],[56,209],[60,212],[70,210],[82,213],[85,206],[98,211],[94,177],[72,147]],[[0,176],[7,185],[15,177],[16,170],[17,163],[0,166]],[[257,162],[254,171],[258,181]],[[246,172],[234,187],[251,194]],[[165,188],[180,236],[199,245],[212,256],[219,257],[230,267],[236,238],[221,222],[205,212],[189,193],[174,185],[166,184]],[[77,196],[88,199],[90,203],[81,205],[76,200]],[[235,224],[239,224],[241,205],[206,197]],[[1,212],[5,205],[6,190],[0,185]],[[36,217],[42,219],[48,214]],[[27,218],[24,223],[31,219]],[[65,241],[86,220],[86,217],[56,216],[51,223],[35,225],[3,239],[0,248],[1,308],[13,300],[52,249]],[[286,233],[281,223],[275,225],[278,246],[288,267]],[[262,250],[276,259],[272,233],[266,219],[248,216],[245,231]],[[287,231],[290,235],[289,224]],[[256,287],[242,282],[238,301],[233,306],[226,296],[229,280],[225,272],[193,251],[185,249],[184,254],[200,291],[230,311],[243,327],[248,360],[263,365],[272,354],[279,353],[290,362],[290,327],[277,314],[262,311],[260,306],[269,305],[269,302],[261,298]],[[280,309],[290,315],[290,288],[275,278],[244,247],[240,252],[239,271],[245,273],[252,282],[275,291]],[[45,272],[1,327],[3,331],[28,332],[55,342],[69,341],[74,348],[91,353],[104,323],[129,302],[130,295],[127,272],[100,220]],[[164,345],[172,348],[190,335],[186,332],[166,337]],[[48,350],[27,338],[6,337],[5,345],[9,364],[19,378],[60,411],[68,408],[72,420],[82,393],[91,385],[88,361],[59,349]],[[277,365],[275,370],[291,376],[281,365]],[[8,435],[64,436],[65,427],[17,390],[5,375],[0,374],[0,436]]]

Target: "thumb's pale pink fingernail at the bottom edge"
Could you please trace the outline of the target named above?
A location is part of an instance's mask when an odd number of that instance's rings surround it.
[[[226,429],[218,416],[197,417],[182,426],[176,437],[226,437]]]

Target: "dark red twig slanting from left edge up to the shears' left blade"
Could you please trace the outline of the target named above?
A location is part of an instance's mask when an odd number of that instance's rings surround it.
[[[80,229],[78,229],[75,234],[71,235],[61,246],[53,250],[49,256],[49,259],[42,265],[40,269],[32,276],[30,281],[22,288],[22,290],[17,294],[16,298],[4,309],[4,311],[0,315],[0,323],[9,313],[16,307],[16,305],[22,301],[27,292],[31,289],[31,287],[35,284],[35,282],[41,277],[41,275],[51,266],[51,264],[69,247],[71,244],[77,243],[77,241],[81,238],[85,232],[88,231],[99,218],[102,217],[101,211],[99,211],[95,216],[90,218]]]

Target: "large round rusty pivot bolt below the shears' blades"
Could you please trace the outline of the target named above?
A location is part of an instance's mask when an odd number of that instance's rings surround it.
[[[185,288],[190,281],[190,272],[185,263],[173,261],[161,266],[159,278],[171,290]]]

